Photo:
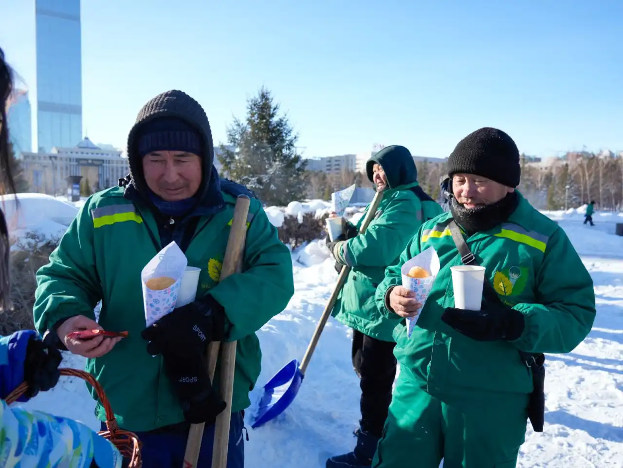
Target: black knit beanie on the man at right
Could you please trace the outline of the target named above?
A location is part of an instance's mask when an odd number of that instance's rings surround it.
[[[484,127],[465,136],[448,158],[448,176],[475,174],[515,188],[521,178],[515,141],[497,128]]]

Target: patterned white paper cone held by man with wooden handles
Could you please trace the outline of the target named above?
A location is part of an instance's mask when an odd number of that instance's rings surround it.
[[[147,327],[159,318],[173,311],[178,301],[179,285],[188,265],[186,255],[174,241],[145,265],[141,272],[143,284],[143,307],[145,307],[145,323]],[[147,287],[150,279],[158,277],[173,278],[175,282],[166,289],[153,290]]]

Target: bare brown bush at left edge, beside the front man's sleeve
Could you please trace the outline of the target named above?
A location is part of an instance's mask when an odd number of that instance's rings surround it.
[[[13,240],[11,245],[11,310],[0,311],[0,335],[17,330],[33,329],[32,306],[37,289],[36,273],[47,264],[60,239],[49,239],[29,232],[26,239]]]

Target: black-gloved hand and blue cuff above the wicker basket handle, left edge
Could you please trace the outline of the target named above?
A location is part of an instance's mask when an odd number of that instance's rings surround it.
[[[0,398],[26,381],[29,389],[17,401],[28,401],[39,391],[46,391],[59,381],[60,351],[44,343],[34,330],[21,330],[2,338],[7,363],[0,365]]]

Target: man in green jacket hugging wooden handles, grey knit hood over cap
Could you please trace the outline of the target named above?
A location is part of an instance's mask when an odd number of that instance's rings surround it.
[[[87,358],[120,427],[143,442],[146,467],[182,466],[191,423],[206,423],[197,466],[211,466],[214,420],[225,404],[220,363],[211,382],[206,347],[221,340],[237,341],[227,466],[244,465],[244,409],[262,356],[255,332],[294,294],[292,259],[277,230],[249,190],[219,178],[213,158],[201,105],[178,90],[156,96],[128,136],[130,175],[87,200],[37,272],[37,330],[52,330],[61,348]],[[252,198],[243,272],[220,281],[239,194]],[[197,299],[146,328],[141,270],[171,241],[201,268]],[[68,336],[92,328],[128,337]],[[95,413],[105,421],[101,401]]]

